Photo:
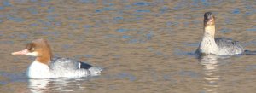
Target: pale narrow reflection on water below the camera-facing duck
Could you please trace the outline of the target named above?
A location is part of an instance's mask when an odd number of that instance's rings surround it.
[[[218,84],[221,76],[218,75],[219,69],[219,59],[229,58],[229,56],[218,56],[218,55],[205,55],[200,57],[201,65],[204,70],[204,79],[206,84],[204,85],[204,90],[207,92],[217,93]]]

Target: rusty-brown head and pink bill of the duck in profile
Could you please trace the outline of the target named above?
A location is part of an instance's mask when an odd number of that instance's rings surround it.
[[[32,43],[26,44],[26,49],[13,52],[12,55],[31,55],[36,56],[37,61],[49,65],[52,57],[51,49],[47,40],[37,39],[32,41]]]

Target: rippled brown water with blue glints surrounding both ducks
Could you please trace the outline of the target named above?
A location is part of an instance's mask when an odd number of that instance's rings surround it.
[[[193,55],[203,14],[217,37],[256,50],[254,0],[2,0],[0,92],[253,93],[256,55]],[[10,55],[33,39],[55,55],[104,67],[95,78],[25,78],[34,58]]]

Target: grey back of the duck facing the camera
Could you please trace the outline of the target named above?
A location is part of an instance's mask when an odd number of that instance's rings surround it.
[[[215,38],[220,55],[236,55],[243,53],[244,49],[237,41],[228,38]]]

